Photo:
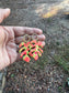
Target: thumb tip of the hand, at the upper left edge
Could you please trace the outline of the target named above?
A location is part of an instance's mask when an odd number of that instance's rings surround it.
[[[0,23],[10,14],[10,9],[0,9]]]

